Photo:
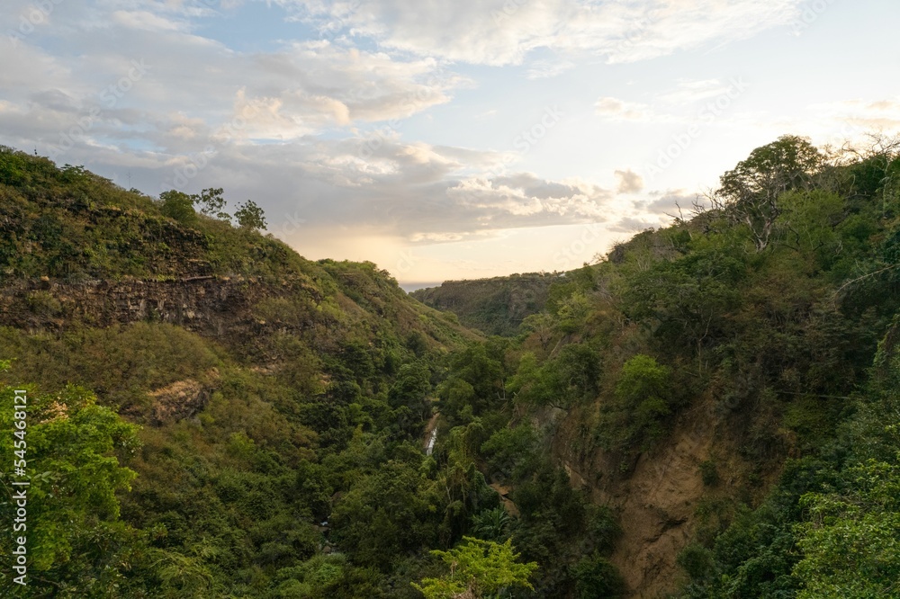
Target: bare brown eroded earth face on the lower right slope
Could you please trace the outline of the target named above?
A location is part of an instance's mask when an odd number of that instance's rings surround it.
[[[644,451],[626,472],[621,456],[596,451],[580,455],[571,443],[577,434],[572,421],[563,420],[554,437],[554,453],[569,473],[572,487],[586,487],[597,503],[617,510],[623,533],[610,560],[625,578],[629,597],[657,599],[671,596],[680,582],[676,563],[680,550],[698,526],[698,505],[733,488],[735,478],[749,465],[725,433],[725,423],[701,404],[680,416],[671,434]],[[716,456],[725,476],[721,489],[704,485],[700,464]],[[772,473],[769,473],[771,478]],[[764,492],[770,480],[758,491]]]

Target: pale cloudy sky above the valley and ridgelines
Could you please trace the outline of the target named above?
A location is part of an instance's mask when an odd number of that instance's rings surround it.
[[[5,0],[0,144],[407,288],[564,271],[785,134],[900,130],[896,0]]]

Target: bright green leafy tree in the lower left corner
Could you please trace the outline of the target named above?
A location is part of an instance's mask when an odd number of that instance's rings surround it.
[[[2,365],[2,364],[0,364]],[[12,463],[14,451],[27,463],[27,528],[4,526],[0,553],[11,555],[14,539],[28,548],[28,595],[114,596],[130,564],[139,560],[139,532],[119,521],[117,493],[130,490],[134,471],[117,456],[138,448],[138,427],[77,387],[54,395],[27,389],[27,408],[14,407],[14,389],[0,388],[0,455]],[[27,427],[14,436],[14,413],[24,411]],[[0,475],[6,489],[0,517],[14,521],[18,500],[10,475]],[[9,570],[7,570],[9,572]],[[8,575],[0,587],[13,588]],[[4,593],[5,595],[5,593]]]

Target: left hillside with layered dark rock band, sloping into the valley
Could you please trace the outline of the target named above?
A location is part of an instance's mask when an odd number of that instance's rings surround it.
[[[0,376],[33,396],[29,464],[50,478],[31,518],[57,535],[32,545],[34,596],[286,596],[275,572],[325,555],[333,497],[418,451],[442,356],[480,338],[374,264],[312,262],[190,204],[174,218],[0,149]],[[62,421],[117,424],[78,453],[50,444]]]

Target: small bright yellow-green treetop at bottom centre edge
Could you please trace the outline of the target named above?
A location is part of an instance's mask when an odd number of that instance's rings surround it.
[[[452,550],[431,553],[442,559],[450,572],[440,578],[425,578],[421,586],[413,583],[426,599],[478,599],[497,596],[513,587],[534,589],[528,578],[534,574],[537,564],[519,562],[511,539],[500,544],[464,537]]]

